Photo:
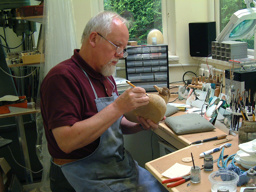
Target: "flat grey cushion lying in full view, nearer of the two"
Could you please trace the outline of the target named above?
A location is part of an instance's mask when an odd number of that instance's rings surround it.
[[[197,113],[166,117],[164,122],[178,135],[216,129],[209,121]]]

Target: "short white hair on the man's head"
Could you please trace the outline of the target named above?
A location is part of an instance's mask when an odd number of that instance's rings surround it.
[[[102,36],[107,36],[109,33],[111,33],[112,30],[112,21],[114,19],[119,19],[121,22],[128,26],[129,23],[126,19],[118,15],[116,12],[109,12],[109,11],[103,11],[99,14],[92,17],[88,23],[86,24],[84,28],[84,32],[82,34],[81,43],[83,44],[84,41],[86,41],[90,34],[95,31],[100,33]]]

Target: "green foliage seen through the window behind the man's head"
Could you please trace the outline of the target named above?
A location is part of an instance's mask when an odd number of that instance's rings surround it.
[[[129,20],[129,41],[147,44],[148,32],[155,28],[163,33],[161,0],[104,0],[104,10]]]

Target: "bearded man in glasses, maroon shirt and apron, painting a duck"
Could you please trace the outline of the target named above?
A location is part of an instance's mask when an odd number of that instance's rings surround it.
[[[149,100],[140,87],[118,97],[111,76],[118,59],[127,56],[126,23],[113,12],[93,17],[84,28],[81,49],[42,82],[52,192],[166,190],[124,149],[123,134],[158,128],[149,119],[137,117],[136,124],[123,117]]]

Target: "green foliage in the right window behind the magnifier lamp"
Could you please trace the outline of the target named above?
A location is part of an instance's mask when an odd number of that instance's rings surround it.
[[[251,3],[251,7],[254,7],[253,3]],[[246,4],[244,0],[220,0],[220,9],[220,31],[222,31],[233,13],[246,9]],[[254,35],[251,39],[238,39],[236,41],[247,42],[248,49],[254,49]]]

